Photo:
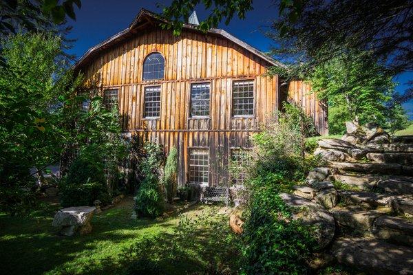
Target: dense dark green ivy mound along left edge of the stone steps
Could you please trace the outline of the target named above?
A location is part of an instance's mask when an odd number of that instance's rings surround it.
[[[289,185],[282,175],[262,174],[253,186],[243,217],[245,274],[306,274],[306,259],[315,248],[310,228],[291,218],[279,197]],[[268,180],[269,178],[269,180]]]

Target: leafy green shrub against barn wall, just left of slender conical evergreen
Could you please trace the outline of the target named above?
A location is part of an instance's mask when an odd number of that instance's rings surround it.
[[[165,155],[160,144],[146,142],[142,148],[140,172],[144,177],[136,194],[135,210],[142,217],[155,218],[165,210],[160,172]]]

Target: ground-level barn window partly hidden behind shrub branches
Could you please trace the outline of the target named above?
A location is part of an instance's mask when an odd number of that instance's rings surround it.
[[[235,186],[244,185],[249,163],[248,152],[243,149],[231,149],[230,174]]]

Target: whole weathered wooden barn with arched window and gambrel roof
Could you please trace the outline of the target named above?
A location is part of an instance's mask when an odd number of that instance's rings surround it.
[[[249,137],[293,100],[328,131],[324,106],[301,81],[266,76],[281,63],[228,32],[182,34],[160,28],[156,14],[140,10],[129,28],[89,49],[76,63],[102,87],[105,104],[117,101],[123,130],[178,148],[178,183],[215,186],[228,179],[229,159],[251,146]]]

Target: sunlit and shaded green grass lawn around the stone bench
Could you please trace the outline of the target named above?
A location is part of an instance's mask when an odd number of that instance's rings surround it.
[[[93,230],[85,236],[59,236],[52,227],[54,211],[30,217],[0,214],[0,274],[118,274],[125,251],[145,237],[173,234],[180,218],[131,219],[133,201],[95,214]],[[187,215],[195,217],[200,208]],[[177,270],[176,274],[184,274]],[[182,272],[182,273],[180,273]]]

